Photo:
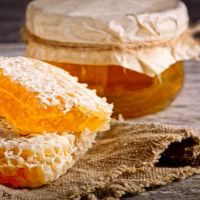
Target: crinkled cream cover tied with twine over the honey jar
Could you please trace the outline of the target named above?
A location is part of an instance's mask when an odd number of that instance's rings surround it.
[[[198,58],[177,0],[37,0],[26,12],[26,54],[46,61],[119,65],[155,76]]]

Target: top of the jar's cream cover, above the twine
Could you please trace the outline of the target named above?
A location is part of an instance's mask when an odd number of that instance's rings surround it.
[[[36,0],[26,28],[57,42],[113,44],[170,40],[188,27],[178,0]]]

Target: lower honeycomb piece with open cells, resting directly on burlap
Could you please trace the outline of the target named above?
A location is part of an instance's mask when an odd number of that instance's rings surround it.
[[[87,132],[81,137],[68,133],[20,136],[0,118],[0,183],[31,188],[50,183],[66,173],[94,138]]]

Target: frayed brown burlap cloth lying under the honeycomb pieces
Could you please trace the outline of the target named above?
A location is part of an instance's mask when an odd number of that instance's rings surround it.
[[[200,137],[155,124],[113,122],[68,173],[37,189],[0,185],[0,199],[119,199],[200,173]]]

